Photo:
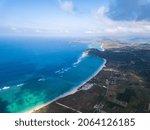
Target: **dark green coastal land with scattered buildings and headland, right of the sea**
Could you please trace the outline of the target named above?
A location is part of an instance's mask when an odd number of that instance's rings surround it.
[[[88,50],[107,60],[106,66],[74,94],[36,113],[150,112],[150,44],[103,40],[105,51]]]

